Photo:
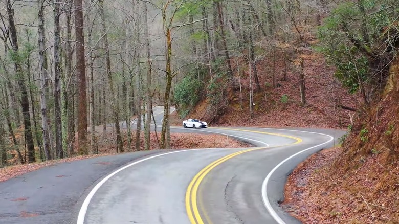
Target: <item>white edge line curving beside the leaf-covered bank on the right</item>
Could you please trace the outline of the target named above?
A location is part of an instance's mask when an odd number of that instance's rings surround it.
[[[274,128],[262,128],[262,129],[286,130],[286,129],[274,129]],[[328,136],[328,137],[330,137],[330,140],[328,140],[327,142],[324,142],[324,143],[322,143],[322,144],[319,144],[319,145],[316,145],[316,146],[313,146],[313,147],[304,149],[304,150],[302,150],[302,151],[299,151],[299,152],[297,152],[297,153],[291,155],[289,158],[286,158],[285,160],[281,161],[277,166],[275,166],[275,167],[272,169],[272,171],[270,171],[269,174],[268,174],[268,175],[266,176],[266,178],[264,179],[264,181],[263,181],[263,183],[262,183],[262,189],[261,189],[261,191],[262,191],[262,200],[263,200],[263,204],[264,204],[264,206],[266,207],[266,209],[268,210],[268,212],[270,213],[270,215],[274,218],[275,221],[277,221],[278,224],[285,224],[285,222],[280,218],[280,216],[278,216],[278,214],[276,213],[276,211],[274,211],[272,205],[270,204],[270,201],[269,201],[269,198],[268,198],[268,193],[267,193],[267,190],[266,190],[266,188],[267,188],[267,186],[268,186],[268,182],[269,182],[269,180],[270,180],[270,177],[273,175],[274,171],[276,171],[281,165],[283,165],[285,162],[289,161],[290,159],[294,158],[295,156],[297,156],[297,155],[299,155],[299,154],[301,154],[301,153],[303,153],[303,152],[305,152],[305,151],[311,150],[311,149],[313,149],[313,148],[316,148],[316,147],[319,147],[319,146],[328,144],[328,143],[330,143],[331,141],[334,140],[334,137],[333,137],[333,136],[326,135],[326,134],[323,134],[323,133],[310,132],[310,131],[298,131],[298,130],[287,130],[287,131],[297,131],[297,132],[305,132],[305,133],[314,133],[314,134],[318,134],[318,135]]]

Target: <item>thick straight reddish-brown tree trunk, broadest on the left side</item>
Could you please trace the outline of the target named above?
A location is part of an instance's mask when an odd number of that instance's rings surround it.
[[[87,148],[87,98],[86,71],[84,61],[84,34],[82,0],[75,0],[76,33],[76,72],[78,79],[78,150],[79,154],[88,154]]]

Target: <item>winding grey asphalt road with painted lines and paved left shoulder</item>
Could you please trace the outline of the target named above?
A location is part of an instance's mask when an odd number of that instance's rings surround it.
[[[162,107],[154,114],[160,124]],[[0,223],[300,223],[278,204],[287,175],[344,133],[255,127],[172,131],[217,133],[254,147],[140,151],[45,167],[0,183]]]

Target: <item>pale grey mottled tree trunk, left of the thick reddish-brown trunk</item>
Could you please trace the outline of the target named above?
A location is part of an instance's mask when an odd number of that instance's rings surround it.
[[[43,150],[45,151],[46,160],[51,160],[50,150],[50,134],[47,117],[47,102],[46,102],[46,72],[45,72],[45,18],[43,0],[39,0],[39,73],[40,73],[40,106],[41,106],[41,129],[43,132]]]

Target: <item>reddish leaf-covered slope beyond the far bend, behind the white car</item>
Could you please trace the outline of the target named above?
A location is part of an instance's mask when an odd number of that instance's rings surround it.
[[[327,65],[324,56],[313,51],[304,51],[302,58],[307,102],[302,106],[299,68],[295,63],[289,62],[285,66],[283,58],[282,53],[276,53],[275,61],[271,56],[257,64],[260,91],[255,91],[253,96],[252,118],[249,112],[248,65],[241,59],[240,70],[243,71],[240,80],[237,73],[235,74],[235,84],[227,96],[229,105],[211,125],[234,126],[239,123],[240,126],[346,128],[350,123],[349,115],[353,112],[341,109],[338,105],[356,108],[361,101],[360,95],[350,95],[334,78],[334,68]],[[236,70],[236,66],[233,69]],[[194,107],[186,119],[197,118],[209,122],[210,118],[206,116],[209,109],[208,100],[204,100]]]

